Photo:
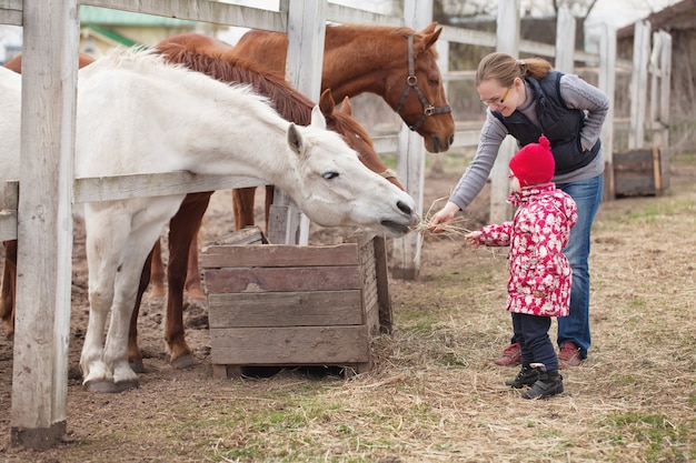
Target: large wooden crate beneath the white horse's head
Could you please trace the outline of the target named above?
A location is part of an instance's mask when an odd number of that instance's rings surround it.
[[[372,236],[330,246],[207,248],[213,375],[237,376],[245,366],[368,371],[371,339],[391,331],[385,251]]]

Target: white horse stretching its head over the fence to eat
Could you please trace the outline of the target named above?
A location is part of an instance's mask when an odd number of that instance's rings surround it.
[[[310,127],[297,127],[248,87],[167,64],[147,51],[117,50],[80,70],[74,173],[255,177],[281,188],[320,225],[407,233],[417,221],[412,198],[325,129],[318,108]],[[183,197],[84,204],[90,314],[80,368],[89,391],[138,386],[127,355],[138,282]]]

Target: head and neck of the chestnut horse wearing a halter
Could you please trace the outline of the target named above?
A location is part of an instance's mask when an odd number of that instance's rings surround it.
[[[389,26],[327,26],[321,90],[331,89],[337,99],[378,94],[424,138],[428,151],[447,151],[455,121],[437,66],[434,44],[443,29],[436,28],[437,22],[420,32]],[[287,49],[285,33],[251,30],[233,54],[285,72]]]

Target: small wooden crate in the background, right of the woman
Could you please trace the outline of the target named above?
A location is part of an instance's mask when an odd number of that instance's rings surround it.
[[[614,195],[644,197],[663,192],[663,162],[658,148],[614,152]]]

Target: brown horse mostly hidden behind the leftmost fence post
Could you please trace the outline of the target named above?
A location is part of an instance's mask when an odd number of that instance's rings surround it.
[[[80,53],[78,66],[84,68],[95,61],[89,54]],[[19,54],[3,64],[11,71],[22,72],[22,56]],[[14,336],[14,289],[17,288],[17,240],[3,241],[4,265],[2,269],[2,286],[0,286],[0,320],[4,322],[8,339]]]

